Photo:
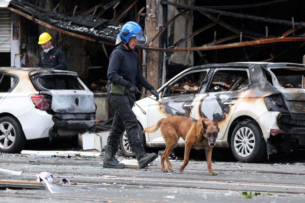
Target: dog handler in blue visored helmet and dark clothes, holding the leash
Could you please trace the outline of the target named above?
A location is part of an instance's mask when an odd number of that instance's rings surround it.
[[[134,51],[138,41],[145,41],[142,28],[135,22],[127,22],[117,35],[116,48],[109,57],[107,96],[115,109],[112,127],[105,146],[103,160],[104,168],[123,169],[125,165],[115,158],[119,140],[126,130],[127,139],[140,168],[145,168],[156,159],[155,153],[146,153],[139,140],[138,120],[132,111],[135,93],[139,90],[135,86],[145,87],[159,100],[158,92],[141,74],[138,54]]]

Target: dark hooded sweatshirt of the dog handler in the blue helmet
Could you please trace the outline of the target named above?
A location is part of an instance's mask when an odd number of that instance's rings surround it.
[[[137,84],[140,87],[150,86],[141,73],[139,55],[133,50],[127,50],[123,45],[118,45],[109,57],[107,77],[109,84],[119,84],[124,87],[128,83]],[[110,89],[108,89],[110,94]],[[127,89],[124,94],[128,95]]]

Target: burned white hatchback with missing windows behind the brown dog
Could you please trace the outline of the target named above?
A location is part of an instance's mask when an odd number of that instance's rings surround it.
[[[305,66],[291,63],[238,62],[186,69],[159,90],[160,104],[151,98],[133,108],[140,139],[147,147],[164,147],[160,130],[142,134],[164,117],[186,114],[195,119],[217,119],[216,147],[230,147],[242,162],[305,149]],[[183,113],[183,114],[182,114]],[[121,148],[132,155],[121,137]],[[183,147],[181,139],[178,146]]]

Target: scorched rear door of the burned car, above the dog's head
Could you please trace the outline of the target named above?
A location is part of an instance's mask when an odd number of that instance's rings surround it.
[[[242,98],[251,90],[249,70],[246,68],[215,68],[211,78],[202,87],[196,99],[198,118],[216,119],[220,131],[217,140],[224,136],[231,116]],[[204,89],[205,88],[205,89]]]

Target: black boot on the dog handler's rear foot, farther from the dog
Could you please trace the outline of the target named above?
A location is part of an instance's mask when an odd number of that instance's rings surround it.
[[[114,148],[110,145],[105,146],[105,156],[103,167],[104,168],[113,168],[113,169],[124,169],[125,165],[120,163],[119,160],[115,158],[118,148]]]

